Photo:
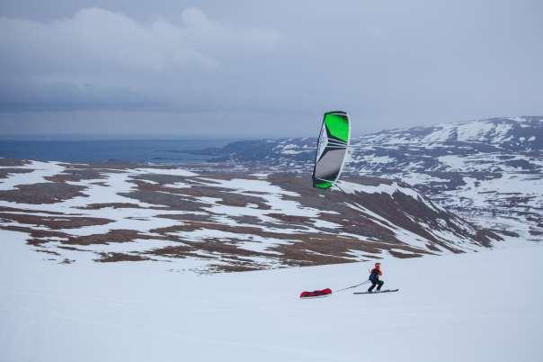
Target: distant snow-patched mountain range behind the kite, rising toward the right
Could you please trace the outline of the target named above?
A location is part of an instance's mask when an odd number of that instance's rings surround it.
[[[245,141],[204,153],[298,172],[312,167],[315,145],[307,138]],[[522,240],[543,238],[542,116],[367,134],[352,140],[345,173],[401,179],[481,226]]]

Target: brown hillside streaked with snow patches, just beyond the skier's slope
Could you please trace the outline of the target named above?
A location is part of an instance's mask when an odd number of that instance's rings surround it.
[[[397,181],[0,160],[0,229],[55,262],[156,260],[199,272],[458,253],[500,245]]]

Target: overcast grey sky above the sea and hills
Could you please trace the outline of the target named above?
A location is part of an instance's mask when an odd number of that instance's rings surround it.
[[[316,136],[543,114],[541,1],[0,2],[0,133]]]

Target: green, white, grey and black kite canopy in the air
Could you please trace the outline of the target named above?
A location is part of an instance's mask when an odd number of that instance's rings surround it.
[[[325,113],[316,147],[314,187],[334,186],[342,173],[350,139],[351,124],[347,113],[343,111]]]

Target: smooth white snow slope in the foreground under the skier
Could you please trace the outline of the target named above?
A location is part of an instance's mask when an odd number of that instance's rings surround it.
[[[543,360],[543,248],[383,260],[396,294],[299,300],[370,263],[199,276],[150,261],[43,263],[4,231],[0,360]]]

